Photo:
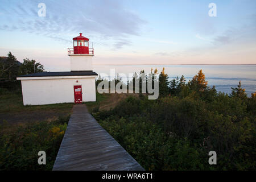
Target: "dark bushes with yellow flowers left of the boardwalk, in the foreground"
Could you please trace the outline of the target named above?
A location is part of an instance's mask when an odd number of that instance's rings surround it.
[[[0,170],[52,170],[68,118],[53,122],[0,127]],[[38,164],[38,152],[46,152],[46,165]]]

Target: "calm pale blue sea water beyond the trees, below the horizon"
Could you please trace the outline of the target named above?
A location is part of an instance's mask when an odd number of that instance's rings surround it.
[[[139,73],[142,69],[145,73],[150,73],[151,68],[160,72],[163,67],[170,79],[184,75],[188,81],[202,69],[208,85],[215,85],[218,91],[231,93],[231,87],[236,87],[239,81],[249,97],[256,91],[256,65],[94,65],[93,71],[110,76],[110,69],[115,69],[115,74],[125,73],[128,77],[128,73]]]

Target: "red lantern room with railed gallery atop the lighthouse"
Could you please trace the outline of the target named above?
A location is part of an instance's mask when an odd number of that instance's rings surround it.
[[[73,48],[68,48],[68,55],[79,54],[79,55],[93,55],[93,48],[89,48],[89,39],[82,36],[73,38]]]

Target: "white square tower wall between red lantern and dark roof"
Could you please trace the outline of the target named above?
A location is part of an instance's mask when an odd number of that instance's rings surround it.
[[[70,55],[71,71],[92,71],[92,55]]]

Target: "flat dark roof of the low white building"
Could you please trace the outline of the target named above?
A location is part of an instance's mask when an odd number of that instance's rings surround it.
[[[97,76],[93,71],[72,71],[72,72],[38,72],[18,77],[43,77],[43,76]]]

